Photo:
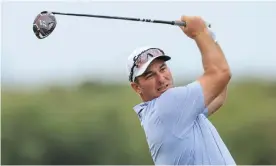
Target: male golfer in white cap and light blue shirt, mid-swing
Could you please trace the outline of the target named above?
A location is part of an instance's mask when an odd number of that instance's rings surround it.
[[[171,57],[159,48],[140,48],[128,58],[129,80],[142,103],[134,107],[156,165],[235,165],[208,120],[223,104],[231,73],[222,50],[200,17],[182,16],[180,27],[197,44],[204,73],[174,87],[166,65]]]

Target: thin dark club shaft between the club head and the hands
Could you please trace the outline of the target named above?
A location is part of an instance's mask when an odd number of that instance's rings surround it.
[[[76,14],[76,13],[61,13],[61,12],[52,12],[52,13],[53,14],[58,14],[58,15],[67,15],[67,16],[95,17],[95,18],[106,18],[106,19],[117,19],[117,20],[128,20],[128,21],[141,21],[141,22],[149,22],[149,23],[186,26],[186,23],[181,22],[181,21],[164,21],[164,20],[141,19],[141,18],[132,18],[132,17],[118,17],[118,16],[104,16],[104,15]]]

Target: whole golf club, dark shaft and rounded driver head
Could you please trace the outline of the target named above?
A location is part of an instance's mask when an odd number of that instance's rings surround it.
[[[33,22],[33,31],[38,39],[44,39],[49,36],[55,29],[57,25],[56,15],[66,15],[66,16],[80,16],[80,17],[94,17],[94,18],[105,18],[105,19],[117,19],[117,20],[128,20],[128,21],[141,21],[148,23],[159,23],[159,24],[169,24],[177,26],[186,26],[185,22],[181,21],[164,21],[164,20],[152,20],[152,19],[141,19],[141,18],[131,18],[131,17],[118,17],[118,16],[104,16],[104,15],[92,15],[92,14],[75,14],[75,13],[60,13],[60,12],[49,12],[42,11],[38,14]],[[208,24],[208,27],[211,27]]]

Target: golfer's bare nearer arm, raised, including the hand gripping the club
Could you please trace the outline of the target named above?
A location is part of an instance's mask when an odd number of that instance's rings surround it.
[[[204,74],[198,78],[198,81],[203,89],[204,103],[209,106],[230,81],[230,68],[224,53],[217,46],[200,17],[183,16],[181,20],[187,23],[187,26],[181,29],[187,36],[194,39],[202,55]]]

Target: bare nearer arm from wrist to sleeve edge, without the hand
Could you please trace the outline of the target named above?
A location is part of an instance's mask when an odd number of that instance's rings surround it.
[[[198,80],[204,89],[205,104],[208,106],[227,86],[231,72],[222,49],[209,32],[202,32],[195,40],[202,55],[204,68],[204,74]]]

